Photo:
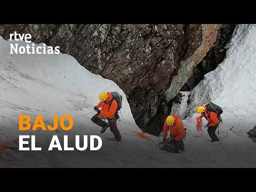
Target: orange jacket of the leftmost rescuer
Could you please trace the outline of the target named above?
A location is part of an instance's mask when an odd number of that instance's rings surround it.
[[[115,99],[113,101],[111,101],[113,99],[113,96],[111,95],[110,92],[107,92],[107,93],[108,93],[107,100],[105,102],[100,101],[98,103],[98,105],[96,106],[97,108],[101,107],[101,112],[98,115],[98,117],[114,118],[114,115],[117,110],[117,102]],[[110,103],[110,101],[111,101],[111,103]]]

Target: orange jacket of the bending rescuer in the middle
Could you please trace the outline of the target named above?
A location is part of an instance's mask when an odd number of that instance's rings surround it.
[[[173,115],[174,117],[174,124],[172,126],[167,125],[166,121],[164,123],[164,129],[163,129],[163,137],[166,139],[167,137],[167,131],[170,130],[171,135],[174,136],[174,139],[176,141],[179,141],[183,139],[186,136],[186,132],[183,126],[183,123],[181,119],[178,117],[178,115]]]

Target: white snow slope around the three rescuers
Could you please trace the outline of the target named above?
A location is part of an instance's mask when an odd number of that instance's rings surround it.
[[[153,137],[154,142],[135,137],[132,131],[141,131],[134,122],[124,92],[114,82],[90,73],[67,54],[11,55],[10,42],[0,36],[0,142],[8,142],[20,134],[35,134],[36,146],[47,149],[53,134],[60,140],[68,134],[72,147],[75,146],[74,135],[99,135],[102,139],[102,148],[98,151],[6,149],[9,155],[2,154],[0,166],[255,167],[256,145],[245,134],[255,124],[255,37],[255,25],[239,25],[227,59],[191,91],[189,106],[182,102],[182,107],[175,109],[182,117],[186,117],[189,111],[190,117],[183,123],[188,130],[185,147],[191,147],[185,153],[170,154],[158,149],[162,137]],[[26,45],[26,42],[20,44]],[[70,131],[59,128],[58,132],[18,129],[18,115],[21,114],[30,115],[31,122],[37,115],[42,115],[44,123],[52,125],[53,115],[75,118],[89,113],[98,103],[101,91],[118,91],[124,96],[121,121],[117,122],[123,134],[120,142],[113,140],[114,135],[110,131],[100,134],[100,127],[90,120],[94,112],[74,119]],[[221,141],[218,143],[210,141],[206,130],[198,137],[200,132],[195,128],[195,106],[210,100],[225,111],[219,135]],[[249,118],[248,114],[251,114]],[[231,126],[235,126],[234,132],[228,130]]]

